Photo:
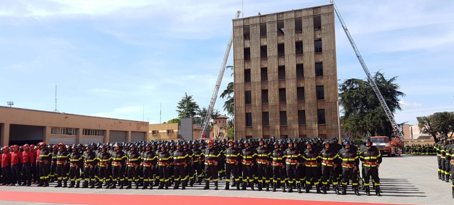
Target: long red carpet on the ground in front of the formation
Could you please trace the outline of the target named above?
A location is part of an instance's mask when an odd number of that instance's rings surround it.
[[[302,196],[304,197],[304,196]],[[45,193],[45,192],[15,192],[0,191],[0,200],[27,201],[41,203],[72,203],[72,204],[183,204],[185,205],[231,205],[231,204],[372,204],[357,202],[333,202],[333,201],[304,201],[290,199],[263,199],[241,197],[218,197],[218,196],[167,196],[167,195],[126,195],[126,194],[75,194],[75,193]],[[373,203],[379,204],[379,203]],[[382,203],[384,204],[384,203]]]

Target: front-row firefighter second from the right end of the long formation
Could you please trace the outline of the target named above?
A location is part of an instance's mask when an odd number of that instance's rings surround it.
[[[357,151],[351,149],[351,142],[344,141],[344,148],[339,151],[339,159],[342,160],[342,195],[347,194],[347,183],[351,180],[353,191],[360,196],[358,191],[358,165],[360,163]]]

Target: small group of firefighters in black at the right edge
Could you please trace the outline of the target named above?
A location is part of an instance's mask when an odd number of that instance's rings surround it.
[[[437,151],[438,179],[449,182],[451,179],[452,198],[454,198],[454,138],[440,136],[433,149]]]

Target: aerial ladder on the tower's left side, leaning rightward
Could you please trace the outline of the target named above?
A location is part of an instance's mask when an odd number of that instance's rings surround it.
[[[241,11],[236,11],[235,18],[240,17],[240,13]],[[207,113],[203,120],[202,130],[200,131],[199,139],[202,139],[204,138],[204,136],[208,135],[208,133],[206,133],[206,129],[208,128],[208,124],[211,120],[211,113],[213,112],[214,104],[216,103],[216,98],[218,98],[219,87],[221,86],[222,77],[224,76],[224,71],[227,64],[227,59],[229,58],[230,49],[232,48],[232,44],[233,44],[233,29],[232,32],[230,33],[229,43],[227,45],[227,50],[225,51],[224,54],[224,60],[222,61],[222,66],[221,70],[219,71],[218,80],[216,81],[216,85],[214,86],[214,91],[213,95],[211,96],[210,105],[208,106]]]

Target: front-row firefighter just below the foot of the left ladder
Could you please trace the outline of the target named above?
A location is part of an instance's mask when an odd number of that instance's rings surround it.
[[[210,189],[210,178],[214,181],[214,190],[218,190],[218,163],[221,153],[214,148],[213,140],[208,141],[208,148],[204,150],[205,155],[205,187],[204,190]],[[228,183],[228,182],[226,182]]]

